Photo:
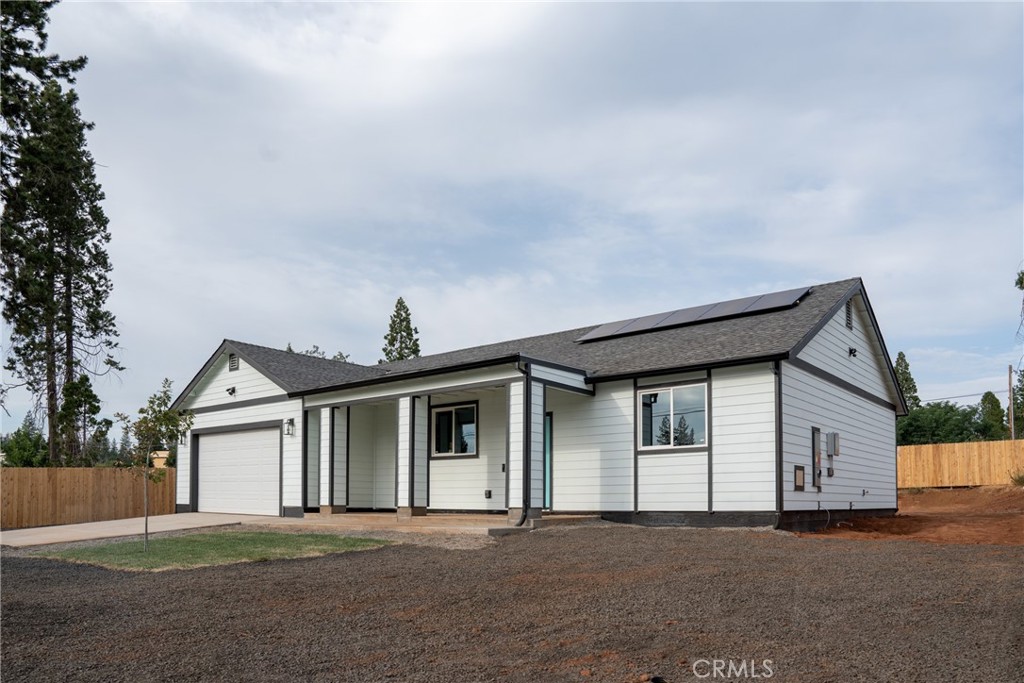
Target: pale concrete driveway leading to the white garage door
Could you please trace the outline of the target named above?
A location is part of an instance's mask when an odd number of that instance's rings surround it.
[[[215,512],[185,512],[175,515],[155,515],[150,517],[150,531],[177,531],[204,526],[224,526],[227,524],[265,523],[275,517],[258,515],[227,515]],[[0,531],[0,545],[24,548],[45,546],[51,543],[73,543],[95,539],[116,539],[142,533],[144,519],[112,519],[84,524],[61,524],[57,526],[37,526]]]

